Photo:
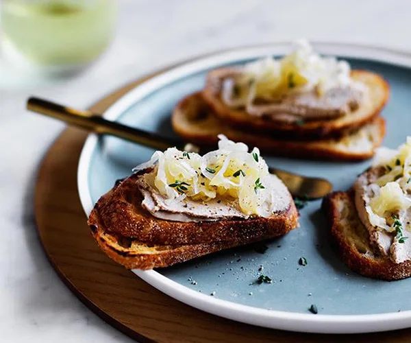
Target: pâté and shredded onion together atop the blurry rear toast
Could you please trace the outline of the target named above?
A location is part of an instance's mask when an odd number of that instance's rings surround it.
[[[367,101],[367,88],[351,78],[349,63],[320,56],[306,40],[280,59],[216,69],[209,85],[228,108],[285,123],[336,119]]]

